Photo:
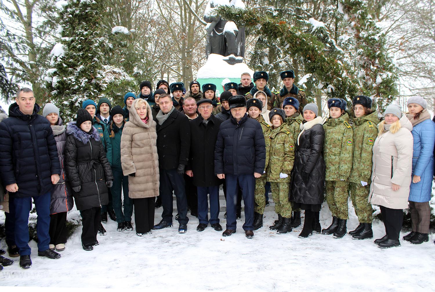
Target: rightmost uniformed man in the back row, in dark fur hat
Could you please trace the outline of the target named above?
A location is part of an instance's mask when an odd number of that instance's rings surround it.
[[[305,105],[308,104],[308,100],[305,96],[305,92],[294,85],[294,71],[282,71],[279,76],[284,82],[284,86],[279,91],[279,94],[276,95],[275,100],[269,102],[273,103],[275,107],[284,108],[284,99],[286,97],[294,97],[298,100],[300,108],[304,108]]]

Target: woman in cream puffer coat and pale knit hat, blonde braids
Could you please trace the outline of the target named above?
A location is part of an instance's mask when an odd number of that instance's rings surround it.
[[[379,205],[386,235],[376,239],[380,248],[400,246],[399,233],[403,223],[403,209],[408,208],[409,185],[412,172],[412,124],[401,108],[390,104],[385,120],[379,123],[379,134],[373,145],[371,172],[371,204]]]

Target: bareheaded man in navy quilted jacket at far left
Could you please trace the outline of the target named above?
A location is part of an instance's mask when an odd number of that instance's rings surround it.
[[[15,243],[20,266],[32,265],[29,242],[29,212],[32,198],[37,211],[38,255],[60,258],[49,249],[50,192],[59,181],[60,162],[50,123],[38,115],[33,91],[21,88],[9,117],[0,123],[0,173],[15,211]]]

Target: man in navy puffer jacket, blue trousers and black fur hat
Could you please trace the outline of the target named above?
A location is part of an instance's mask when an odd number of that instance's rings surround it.
[[[214,173],[227,185],[227,229],[223,236],[236,232],[236,203],[241,188],[247,238],[254,237],[255,178],[261,177],[266,162],[266,144],[260,123],[248,118],[244,96],[229,99],[231,118],[221,124],[214,154]]]

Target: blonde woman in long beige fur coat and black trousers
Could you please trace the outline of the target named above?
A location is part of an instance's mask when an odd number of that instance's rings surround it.
[[[131,104],[130,121],[121,136],[121,166],[124,175],[128,175],[128,196],[133,199],[137,236],[151,234],[154,226],[154,200],[159,195],[156,141],[151,107],[138,98]]]

